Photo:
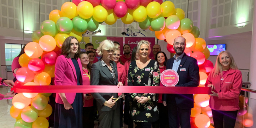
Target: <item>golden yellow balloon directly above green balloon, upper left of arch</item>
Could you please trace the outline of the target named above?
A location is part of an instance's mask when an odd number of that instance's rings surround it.
[[[70,19],[73,19],[74,17],[77,16],[76,5],[72,2],[65,2],[61,6],[61,13],[64,17],[68,17]]]

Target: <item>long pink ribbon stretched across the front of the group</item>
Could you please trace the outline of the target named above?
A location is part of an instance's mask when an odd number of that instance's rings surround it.
[[[159,87],[159,86],[14,86],[16,93],[166,93],[212,94],[211,87]]]

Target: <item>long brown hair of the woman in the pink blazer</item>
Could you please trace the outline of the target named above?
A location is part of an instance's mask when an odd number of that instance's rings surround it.
[[[64,55],[66,58],[70,58],[70,45],[71,45],[71,40],[72,39],[76,39],[76,37],[74,36],[70,36],[68,37],[62,44],[61,46],[61,55]],[[78,42],[78,49],[77,49],[77,52],[75,54],[75,58],[78,59],[79,58],[79,53],[81,51],[80,49],[80,45],[79,45],[79,41],[77,40]]]

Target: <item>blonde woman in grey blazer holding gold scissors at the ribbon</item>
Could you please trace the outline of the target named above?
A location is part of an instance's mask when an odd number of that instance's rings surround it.
[[[91,85],[117,85],[118,82],[116,63],[111,61],[115,47],[112,41],[102,41],[97,48],[97,54],[102,56],[98,62],[92,65]],[[119,101],[112,99],[117,98],[117,93],[92,93],[96,99],[97,110],[99,111],[98,128],[119,128]]]

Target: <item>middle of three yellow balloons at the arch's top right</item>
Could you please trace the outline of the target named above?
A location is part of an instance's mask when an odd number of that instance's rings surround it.
[[[147,6],[147,14],[148,17],[156,18],[158,17],[162,12],[162,6],[158,2],[150,2]]]

